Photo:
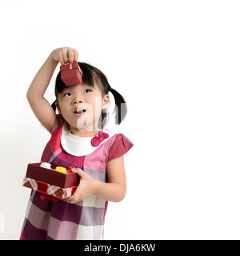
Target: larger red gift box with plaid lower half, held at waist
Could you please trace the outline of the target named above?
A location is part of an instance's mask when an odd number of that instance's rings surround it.
[[[22,186],[41,192],[42,199],[58,200],[57,198],[68,198],[74,194],[79,184],[78,174],[68,171],[62,174],[55,170],[59,165],[52,162],[50,162],[51,169],[40,165],[41,162],[28,164]],[[62,167],[70,169],[66,166]]]

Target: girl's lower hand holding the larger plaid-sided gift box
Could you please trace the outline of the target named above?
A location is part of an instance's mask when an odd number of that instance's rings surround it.
[[[71,197],[66,198],[66,200],[70,203],[82,201],[85,198],[87,198],[90,194],[94,194],[96,182],[94,178],[90,177],[89,174],[86,174],[86,172],[84,172],[80,168],[75,168],[75,170],[73,171],[80,176],[80,183],[74,194]]]

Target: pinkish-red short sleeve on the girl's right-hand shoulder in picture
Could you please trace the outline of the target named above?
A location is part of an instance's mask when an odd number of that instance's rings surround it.
[[[118,134],[113,145],[110,147],[108,160],[118,158],[126,154],[134,144],[123,134]]]

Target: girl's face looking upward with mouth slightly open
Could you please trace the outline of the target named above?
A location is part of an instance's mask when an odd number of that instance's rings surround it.
[[[106,109],[109,103],[109,94],[102,97],[98,84],[94,87],[79,84],[66,86],[62,93],[58,94],[56,106],[70,125],[70,130],[96,131],[102,109]]]

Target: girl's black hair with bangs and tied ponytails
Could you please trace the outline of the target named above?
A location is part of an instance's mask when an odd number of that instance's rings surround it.
[[[114,90],[109,82],[107,81],[106,75],[102,73],[101,70],[98,70],[96,67],[91,66],[90,64],[84,63],[84,62],[78,62],[78,65],[80,66],[82,70],[82,84],[87,84],[89,86],[95,86],[94,82],[97,82],[100,86],[100,89],[102,91],[102,95],[106,95],[109,92],[111,92],[114,95],[115,100],[115,122],[116,124],[120,124],[122,120],[126,117],[126,101],[122,97],[121,94],[118,93],[117,90]],[[66,88],[65,83],[62,81],[61,73],[59,72],[56,78],[55,82],[55,96],[56,100],[55,102],[58,102],[58,94],[62,92]],[[56,110],[55,102],[52,104],[52,107],[54,111]],[[100,117],[100,120],[98,122],[98,126],[100,128],[103,128],[106,126],[106,122],[108,119],[109,112],[108,110],[102,110],[102,114]]]

